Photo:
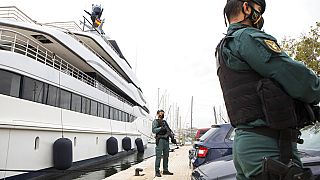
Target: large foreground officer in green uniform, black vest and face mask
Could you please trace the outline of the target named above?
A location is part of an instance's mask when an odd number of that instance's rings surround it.
[[[224,17],[229,27],[216,49],[217,74],[236,128],[237,179],[309,179],[311,171],[302,168],[297,153],[306,114],[296,107],[319,103],[320,81],[261,31],[265,8],[265,0],[227,0]],[[288,172],[272,169],[282,165]]]

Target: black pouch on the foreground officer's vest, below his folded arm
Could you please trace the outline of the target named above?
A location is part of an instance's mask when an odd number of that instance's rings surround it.
[[[270,128],[286,129],[296,127],[297,116],[294,100],[271,79],[258,82],[257,93],[261,100],[262,111]]]

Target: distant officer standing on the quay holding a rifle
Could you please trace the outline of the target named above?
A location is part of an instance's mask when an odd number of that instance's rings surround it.
[[[152,132],[156,134],[156,162],[155,162],[155,171],[156,176],[161,177],[160,174],[160,161],[161,155],[163,153],[163,175],[173,175],[168,170],[168,160],[169,160],[169,133],[170,128],[168,123],[163,120],[164,111],[157,111],[158,119],[155,119],[152,123]],[[171,141],[175,141],[171,139]]]

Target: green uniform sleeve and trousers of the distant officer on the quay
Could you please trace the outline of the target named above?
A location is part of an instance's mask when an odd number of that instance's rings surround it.
[[[152,132],[154,134],[159,133],[161,127],[158,127],[159,123],[155,119],[152,122]],[[161,155],[163,153],[163,171],[168,171],[168,161],[169,161],[169,137],[167,139],[160,138],[158,145],[156,146],[156,162],[155,171],[160,171]]]

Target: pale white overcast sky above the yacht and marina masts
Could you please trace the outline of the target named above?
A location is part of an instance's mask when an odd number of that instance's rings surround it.
[[[1,0],[40,22],[83,19],[83,10],[101,4],[103,30],[115,39],[133,67],[149,103],[150,114],[160,108],[168,122],[179,107],[182,126],[209,127],[223,110],[224,101],[216,75],[214,51],[226,32],[226,0]],[[307,33],[320,21],[319,0],[266,0],[263,30],[281,41]],[[158,93],[159,92],[159,93]],[[169,111],[170,109],[170,111]],[[174,113],[173,113],[174,112]],[[218,116],[219,120],[219,116]],[[221,123],[222,121],[220,121]]]

